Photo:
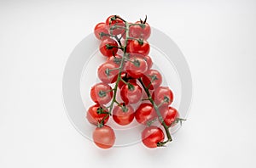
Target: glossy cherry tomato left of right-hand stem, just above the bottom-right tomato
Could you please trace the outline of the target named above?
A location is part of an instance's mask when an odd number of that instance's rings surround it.
[[[135,111],[135,119],[140,124],[147,124],[148,120],[154,120],[157,117],[152,104],[143,103]]]

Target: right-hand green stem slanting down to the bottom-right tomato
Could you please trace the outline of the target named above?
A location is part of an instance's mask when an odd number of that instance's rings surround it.
[[[148,95],[148,100],[149,100],[150,103],[153,105],[153,107],[154,107],[154,109],[155,109],[155,111],[156,111],[156,114],[158,115],[158,120],[160,120],[160,123],[161,123],[161,124],[164,126],[164,128],[165,128],[167,140],[166,140],[165,142],[160,142],[160,143],[158,143],[158,146],[164,146],[166,143],[172,141],[171,133],[170,133],[170,131],[169,131],[168,126],[166,126],[166,122],[164,121],[162,115],[160,114],[160,110],[159,110],[158,106],[154,103],[154,100],[153,100],[153,98],[151,97],[151,94],[150,94],[148,88],[144,85],[142,79],[138,79],[138,81],[140,81],[141,85],[143,86],[143,89],[144,89],[145,92],[147,93],[147,95]]]

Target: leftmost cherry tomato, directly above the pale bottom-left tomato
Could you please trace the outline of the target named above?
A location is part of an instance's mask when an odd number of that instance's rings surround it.
[[[93,124],[93,125],[96,125],[102,121],[102,119],[108,115],[108,114],[98,114],[97,113],[97,110],[99,108],[102,108],[102,109],[106,109],[104,106],[101,106],[100,104],[95,104],[93,106],[90,106],[90,108],[87,110],[87,115],[86,115],[86,118],[87,120]],[[108,112],[108,110],[104,110],[104,112]],[[109,116],[104,120],[104,124],[106,124],[108,122],[108,118]]]

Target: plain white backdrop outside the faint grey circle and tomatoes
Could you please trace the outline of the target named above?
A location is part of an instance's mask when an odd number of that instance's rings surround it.
[[[255,1],[1,1],[0,167],[256,167]],[[189,120],[167,148],[102,150],[70,124],[69,53],[110,14],[148,22],[189,62]]]

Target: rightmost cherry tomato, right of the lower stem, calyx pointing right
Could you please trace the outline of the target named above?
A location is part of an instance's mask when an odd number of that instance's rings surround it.
[[[166,126],[175,126],[175,123],[173,122],[179,117],[177,109],[173,107],[160,108],[160,114],[162,115]]]

